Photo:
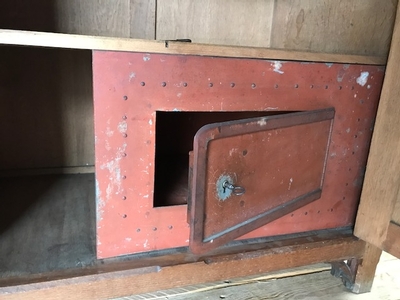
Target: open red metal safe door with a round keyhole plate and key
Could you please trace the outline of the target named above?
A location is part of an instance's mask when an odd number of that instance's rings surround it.
[[[194,138],[190,249],[202,254],[322,193],[333,108],[209,124]]]

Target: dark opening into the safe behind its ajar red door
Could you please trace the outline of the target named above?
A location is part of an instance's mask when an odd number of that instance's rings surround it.
[[[189,152],[204,125],[262,117],[282,112],[162,112],[156,113],[154,207],[187,203]]]

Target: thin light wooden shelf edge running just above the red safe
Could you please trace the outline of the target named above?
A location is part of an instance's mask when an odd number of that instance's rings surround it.
[[[68,49],[130,51],[162,54],[204,55],[239,58],[264,58],[310,62],[385,65],[387,57],[315,53],[256,47],[192,44],[76,34],[0,30],[0,44]]]

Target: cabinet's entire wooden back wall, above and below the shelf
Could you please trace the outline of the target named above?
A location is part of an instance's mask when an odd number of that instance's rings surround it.
[[[386,56],[396,5],[3,0],[0,28]],[[90,51],[3,46],[0,55],[0,170],[93,165]]]

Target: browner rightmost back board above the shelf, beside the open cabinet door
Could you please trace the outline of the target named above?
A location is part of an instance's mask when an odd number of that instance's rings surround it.
[[[387,56],[397,1],[275,1],[271,47]]]

